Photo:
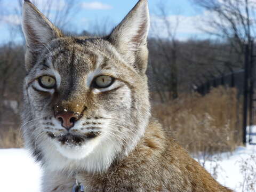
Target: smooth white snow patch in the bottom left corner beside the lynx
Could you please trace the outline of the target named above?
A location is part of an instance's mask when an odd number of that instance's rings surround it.
[[[25,149],[0,149],[0,191],[38,192],[41,174]]]

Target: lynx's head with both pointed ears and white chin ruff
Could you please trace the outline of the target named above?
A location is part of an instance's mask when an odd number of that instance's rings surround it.
[[[140,0],[105,37],[69,37],[23,4],[27,147],[46,167],[103,171],[130,153],[150,116],[149,13]]]

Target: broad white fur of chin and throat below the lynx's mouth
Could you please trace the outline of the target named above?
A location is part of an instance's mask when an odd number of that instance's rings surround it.
[[[63,146],[52,139],[43,140],[40,145],[44,154],[45,169],[50,171],[106,171],[117,153],[122,151],[122,145],[115,138],[100,136],[80,147]]]

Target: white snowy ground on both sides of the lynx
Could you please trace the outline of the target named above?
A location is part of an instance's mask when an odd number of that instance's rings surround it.
[[[238,147],[233,154],[214,156],[211,162],[205,163],[205,167],[215,176],[217,174],[217,180],[222,185],[242,192],[241,184],[247,176],[241,173],[241,169],[248,171],[251,178],[253,174],[256,177],[256,158],[253,161],[251,155],[256,155],[256,146]],[[203,162],[202,159],[201,162]],[[255,167],[254,170],[253,167]],[[38,192],[41,175],[39,165],[33,162],[26,150],[0,149],[0,191]]]

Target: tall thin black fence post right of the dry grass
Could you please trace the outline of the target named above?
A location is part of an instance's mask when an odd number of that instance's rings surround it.
[[[249,44],[245,44],[244,52],[244,106],[243,106],[243,143],[246,144],[247,108],[248,108],[248,78],[249,78]]]

